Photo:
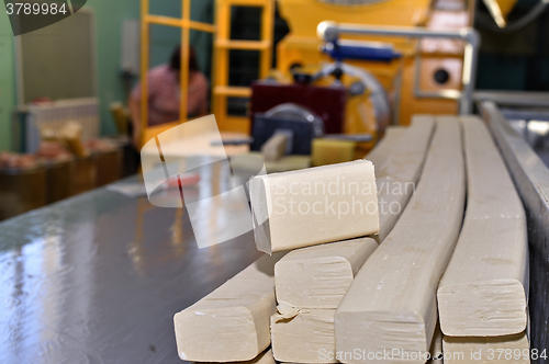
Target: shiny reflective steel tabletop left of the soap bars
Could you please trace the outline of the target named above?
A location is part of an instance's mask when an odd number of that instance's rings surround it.
[[[259,255],[251,232],[199,250],[186,209],[104,189],[0,223],[0,363],[181,363],[173,314]]]

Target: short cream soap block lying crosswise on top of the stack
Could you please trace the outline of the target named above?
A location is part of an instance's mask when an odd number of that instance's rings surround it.
[[[367,160],[250,180],[257,249],[271,253],[379,231],[373,164]]]

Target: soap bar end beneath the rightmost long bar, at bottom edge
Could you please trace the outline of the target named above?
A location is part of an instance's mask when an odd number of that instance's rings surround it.
[[[526,332],[504,337],[444,337],[445,364],[529,364]]]

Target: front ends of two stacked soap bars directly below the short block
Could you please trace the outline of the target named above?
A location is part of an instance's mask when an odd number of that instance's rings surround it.
[[[296,249],[274,265],[279,307],[271,318],[273,355],[280,362],[335,363],[334,315],[345,292],[378,248],[370,238]],[[330,357],[330,359],[328,359]]]

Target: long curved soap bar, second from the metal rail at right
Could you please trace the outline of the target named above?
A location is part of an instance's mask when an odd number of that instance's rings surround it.
[[[438,117],[416,193],[337,308],[338,352],[399,349],[428,354],[437,322],[438,281],[456,244],[463,205],[460,125],[456,118]],[[426,361],[424,355],[415,357],[411,363]]]

